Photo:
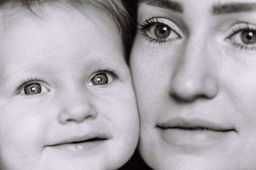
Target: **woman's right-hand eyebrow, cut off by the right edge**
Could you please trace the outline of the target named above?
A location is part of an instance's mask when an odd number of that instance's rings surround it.
[[[222,15],[229,13],[256,11],[256,3],[229,3],[216,4],[212,7],[213,15]]]

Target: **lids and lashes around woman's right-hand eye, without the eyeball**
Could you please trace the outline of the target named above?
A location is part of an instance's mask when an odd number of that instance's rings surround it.
[[[231,29],[231,33],[229,33],[229,36],[226,38],[226,40],[228,40],[228,42],[231,42],[233,46],[235,46],[236,48],[239,48],[240,50],[245,50],[245,51],[256,51],[256,44],[254,46],[250,46],[245,45],[245,44],[238,44],[237,42],[233,42],[231,40],[231,38],[236,35],[237,33],[241,32],[241,31],[252,31],[252,32],[256,32],[256,26],[251,26],[250,24],[247,23],[239,23],[236,26],[234,26]]]

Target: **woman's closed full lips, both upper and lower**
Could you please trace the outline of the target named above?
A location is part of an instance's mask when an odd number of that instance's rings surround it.
[[[168,119],[157,124],[162,138],[175,146],[205,146],[219,144],[236,129],[231,125],[216,124],[203,119]]]

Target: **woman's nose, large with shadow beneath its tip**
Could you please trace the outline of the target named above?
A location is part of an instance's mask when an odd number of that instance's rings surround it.
[[[189,42],[188,42],[189,43]],[[218,82],[211,57],[203,48],[188,46],[182,53],[171,79],[170,94],[175,99],[191,102],[211,99],[218,93]]]

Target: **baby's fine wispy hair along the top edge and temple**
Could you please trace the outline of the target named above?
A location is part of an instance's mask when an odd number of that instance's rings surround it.
[[[7,2],[9,0],[6,0]],[[85,9],[93,10],[100,15],[112,18],[119,26],[120,34],[123,38],[123,43],[128,55],[130,48],[131,37],[130,27],[131,18],[125,9],[125,4],[122,0],[14,0],[18,4],[25,6],[27,9],[36,14],[35,9],[43,8],[43,4],[63,4],[68,7],[74,7],[80,11]],[[104,17],[104,16],[103,16]],[[127,58],[127,57],[126,57]]]

